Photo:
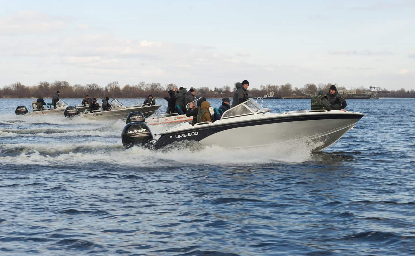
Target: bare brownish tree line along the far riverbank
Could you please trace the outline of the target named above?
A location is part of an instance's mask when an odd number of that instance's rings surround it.
[[[283,85],[261,85],[260,88],[249,87],[250,97],[263,97],[265,94],[274,92],[275,96],[297,96],[304,97],[303,91],[306,93],[314,94],[315,90],[328,91],[331,83],[319,83],[315,85],[308,83],[302,88],[293,88],[291,83]],[[95,98],[146,98],[149,94],[156,98],[164,98],[168,96],[168,90],[178,88],[174,83],[161,85],[160,83],[145,83],[140,82],[137,85],[124,85],[122,88],[117,81],[108,83],[104,88],[98,86],[96,83],[87,83],[85,85],[76,84],[70,85],[67,81],[54,81],[49,83],[46,81],[39,82],[32,86],[23,85],[20,82],[13,83],[11,85],[0,88],[0,98],[51,98],[51,96],[59,90],[62,98],[83,98],[85,95]],[[193,88],[196,91],[196,95],[206,98],[223,98],[232,97],[235,91],[235,87],[232,88],[229,85],[222,87],[215,87],[213,90],[208,87]],[[345,90],[342,86],[337,87],[338,90]],[[356,88],[356,93],[363,93],[366,88]],[[190,90],[190,88],[187,88]],[[391,90],[389,93],[381,93],[382,91],[388,91],[385,88],[376,88],[379,92],[379,97],[391,97],[391,98],[415,98],[415,90]]]

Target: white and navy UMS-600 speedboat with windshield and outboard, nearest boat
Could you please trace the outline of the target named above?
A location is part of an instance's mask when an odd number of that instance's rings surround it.
[[[340,110],[271,113],[249,99],[225,111],[214,122],[194,126],[183,123],[154,136],[146,123],[132,122],[124,127],[121,137],[126,148],[145,145],[159,149],[179,141],[247,148],[305,140],[314,144],[313,151],[319,151],[340,139],[363,116]]]

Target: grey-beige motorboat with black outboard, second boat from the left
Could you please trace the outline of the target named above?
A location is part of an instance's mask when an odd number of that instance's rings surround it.
[[[156,99],[153,98],[154,102],[156,102]],[[130,106],[125,107],[122,105],[120,101],[117,99],[113,99],[110,102],[111,110],[105,111],[105,110],[90,110],[87,109],[82,113],[79,113],[76,111],[77,107],[68,107],[67,115],[66,117],[73,117],[77,116],[77,118],[86,118],[91,120],[116,120],[116,119],[122,119],[127,117],[127,115],[130,112],[142,112],[144,117],[149,117],[154,112],[156,112],[160,105],[140,105],[140,106]]]

